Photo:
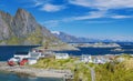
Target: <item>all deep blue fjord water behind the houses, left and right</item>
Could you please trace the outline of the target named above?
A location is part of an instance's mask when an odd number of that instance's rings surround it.
[[[79,51],[55,51],[55,52],[63,52],[69,53],[72,55],[81,55],[81,54],[120,54],[120,53],[130,53],[133,54],[133,43],[132,42],[121,42],[119,43],[121,49],[124,51],[112,51],[116,48],[79,48]],[[32,48],[37,48],[39,45],[0,45],[0,61],[7,61],[16,52],[20,51],[29,51]]]

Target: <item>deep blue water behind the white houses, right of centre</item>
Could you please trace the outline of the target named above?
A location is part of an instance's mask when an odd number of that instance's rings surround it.
[[[55,51],[58,53],[69,53],[70,55],[81,55],[81,54],[91,54],[91,55],[102,55],[102,54],[133,54],[133,43],[132,42],[121,42],[119,43],[124,51],[113,51],[116,48],[79,48],[79,51]]]

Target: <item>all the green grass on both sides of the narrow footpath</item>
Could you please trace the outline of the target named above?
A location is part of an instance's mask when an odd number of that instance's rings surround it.
[[[133,58],[125,58],[123,62],[110,62],[105,64],[84,64],[79,59],[55,60],[54,58],[41,59],[32,67],[43,69],[70,69],[74,73],[74,81],[91,81],[91,73],[86,67],[95,68],[96,81],[133,81]]]

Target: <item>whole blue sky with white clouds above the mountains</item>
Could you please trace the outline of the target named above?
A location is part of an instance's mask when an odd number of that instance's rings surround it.
[[[133,41],[133,0],[0,0],[0,10],[25,9],[51,31]]]

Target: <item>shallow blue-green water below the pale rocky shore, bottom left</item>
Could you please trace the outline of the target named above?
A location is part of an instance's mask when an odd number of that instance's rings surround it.
[[[63,81],[63,80],[58,78],[22,77],[14,73],[0,72],[0,81]]]

